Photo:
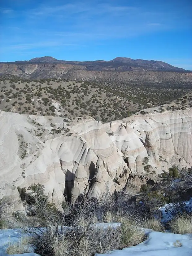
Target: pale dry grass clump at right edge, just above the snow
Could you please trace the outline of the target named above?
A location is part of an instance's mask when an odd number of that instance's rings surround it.
[[[179,215],[170,223],[171,231],[175,234],[192,233],[192,216],[189,214]]]

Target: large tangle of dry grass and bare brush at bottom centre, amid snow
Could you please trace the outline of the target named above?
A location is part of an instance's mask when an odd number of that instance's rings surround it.
[[[91,222],[86,218],[81,219],[82,226],[75,224],[62,232],[59,229],[57,232],[46,230],[43,236],[37,237],[37,253],[88,256],[136,245],[144,239],[144,233],[129,218],[116,227],[105,224],[97,226]]]

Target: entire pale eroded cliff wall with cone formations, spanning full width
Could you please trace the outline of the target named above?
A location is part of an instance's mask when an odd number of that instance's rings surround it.
[[[62,132],[53,134],[53,124]],[[57,204],[108,189],[139,192],[172,165],[192,165],[191,108],[70,125],[60,117],[0,112],[1,196],[18,199],[17,187],[31,183],[43,184]]]

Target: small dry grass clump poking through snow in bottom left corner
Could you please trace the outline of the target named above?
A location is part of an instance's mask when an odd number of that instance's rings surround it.
[[[17,243],[9,243],[7,248],[7,254],[23,254],[28,252],[27,245],[29,244],[29,239],[27,237],[22,237]]]

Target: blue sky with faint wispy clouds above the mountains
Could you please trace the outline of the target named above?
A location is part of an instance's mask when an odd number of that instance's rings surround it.
[[[1,0],[0,61],[162,60],[192,70],[191,0]]]

